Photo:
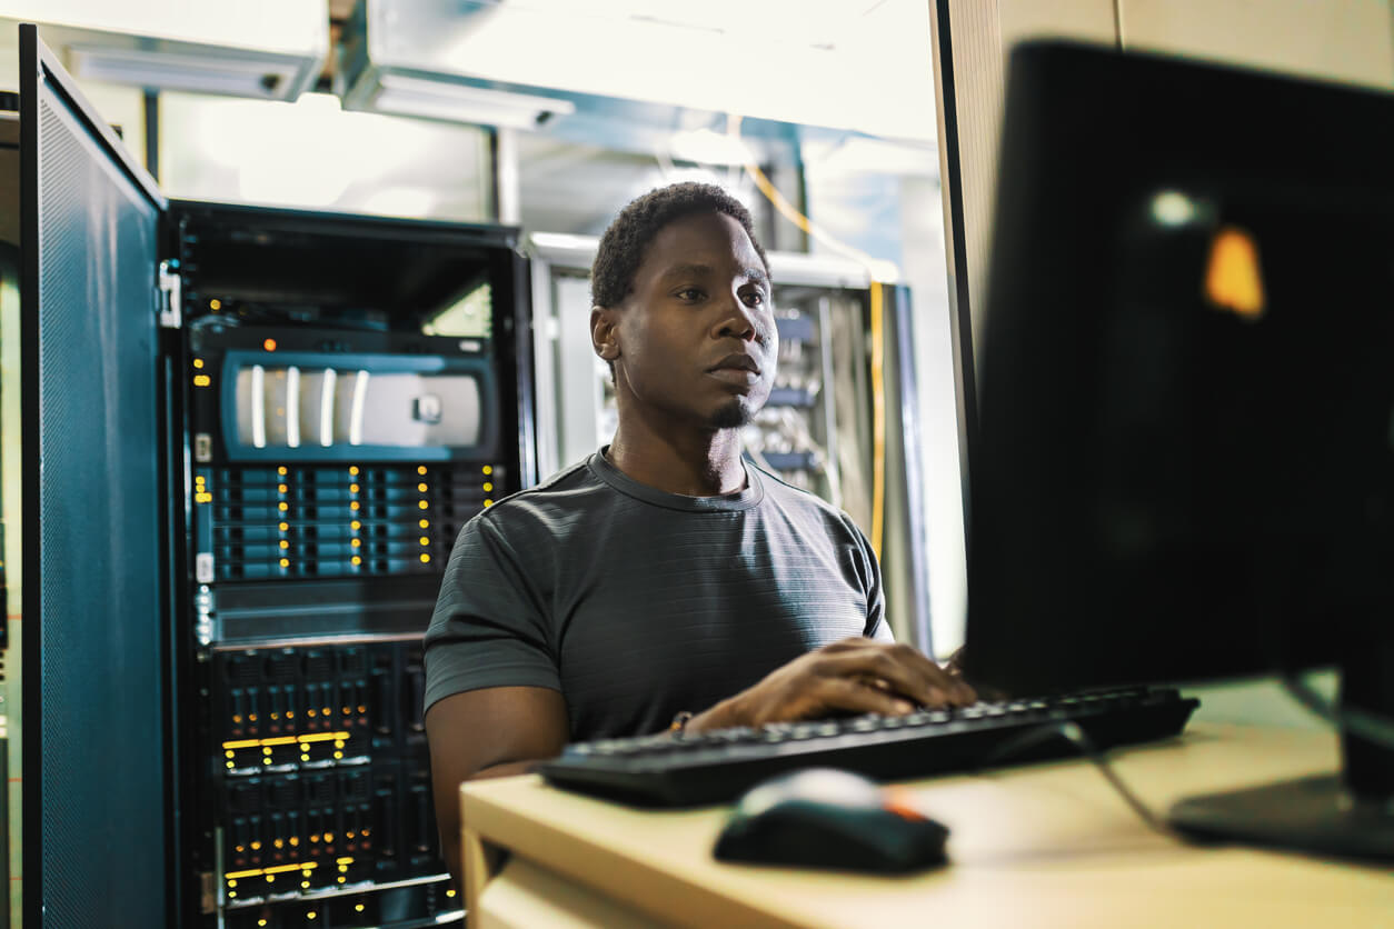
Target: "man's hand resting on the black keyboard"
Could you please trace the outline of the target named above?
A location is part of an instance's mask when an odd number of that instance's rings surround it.
[[[687,723],[687,731],[764,726],[829,713],[903,716],[967,706],[973,688],[909,645],[850,638],[809,652]]]

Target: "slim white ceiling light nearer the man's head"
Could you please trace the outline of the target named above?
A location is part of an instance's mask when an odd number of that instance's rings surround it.
[[[574,103],[559,97],[428,81],[400,74],[383,74],[378,78],[378,91],[372,96],[371,109],[379,113],[514,130],[535,128],[546,116],[576,113]]]

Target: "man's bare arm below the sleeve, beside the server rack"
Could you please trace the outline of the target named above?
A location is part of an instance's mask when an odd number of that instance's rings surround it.
[[[566,702],[545,687],[489,687],[436,701],[425,723],[441,852],[463,889],[460,781],[521,774],[560,755],[569,730]]]

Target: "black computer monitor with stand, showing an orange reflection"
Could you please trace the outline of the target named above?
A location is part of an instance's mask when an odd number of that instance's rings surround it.
[[[1039,692],[1335,664],[1387,737],[1394,95],[1030,43],[997,196],[969,673]],[[1344,777],[1174,819],[1394,855],[1361,802],[1394,795],[1394,744],[1344,745]]]

